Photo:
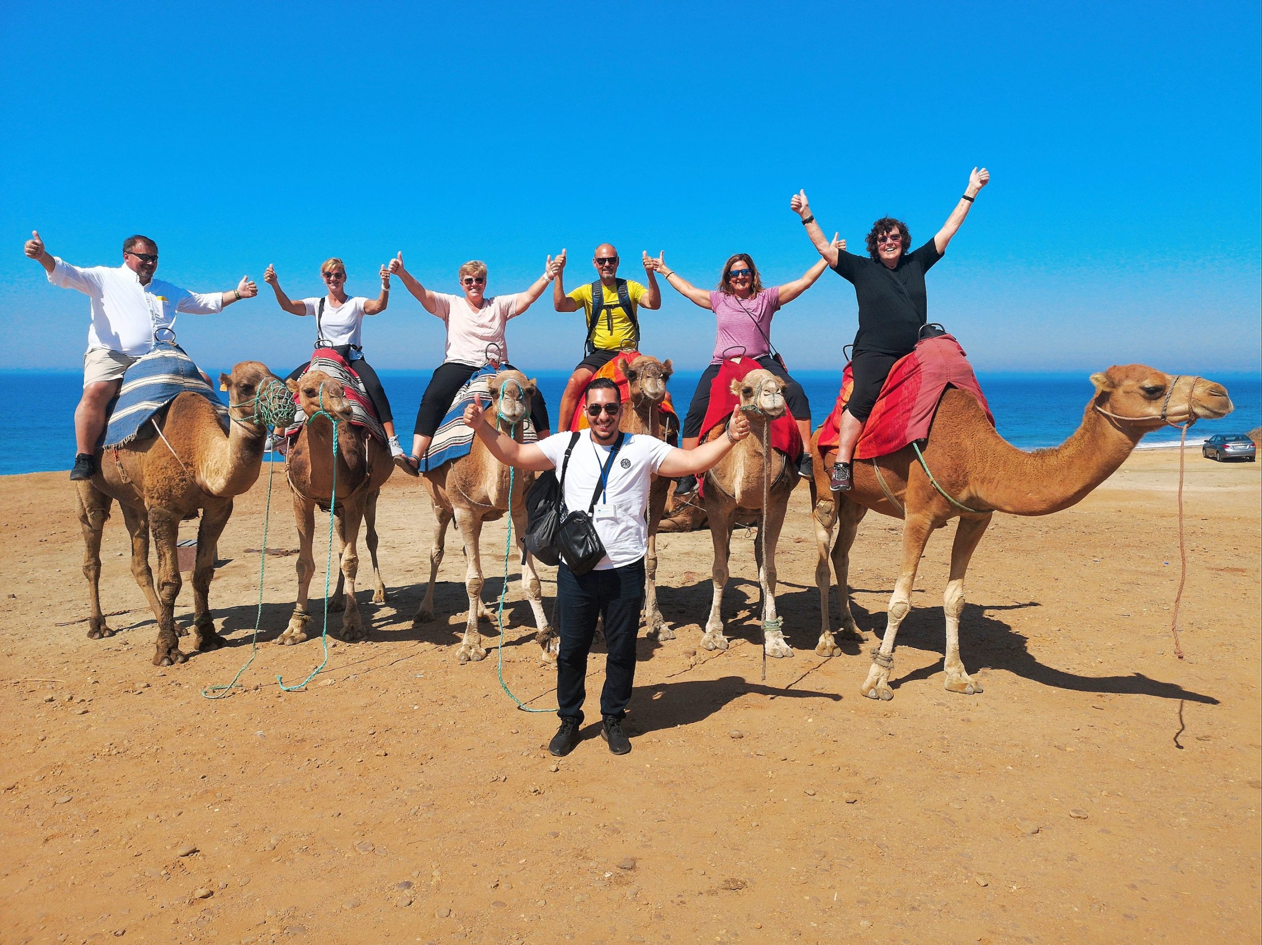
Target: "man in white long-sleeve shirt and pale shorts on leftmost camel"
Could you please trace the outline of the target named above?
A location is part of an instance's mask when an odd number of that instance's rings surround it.
[[[87,329],[83,356],[83,396],[74,409],[77,455],[72,479],[88,479],[96,469],[96,447],[105,430],[105,410],[122,385],[124,372],[153,351],[156,333],[175,324],[177,312],[206,315],[221,312],[239,299],[259,294],[250,276],[241,276],[236,289],[199,294],[154,279],[158,244],[148,236],[129,236],[122,242],[122,265],[80,269],[44,249],[32,231],[25,251],[48,273],[48,281],[77,289],[92,300],[92,324]]]

